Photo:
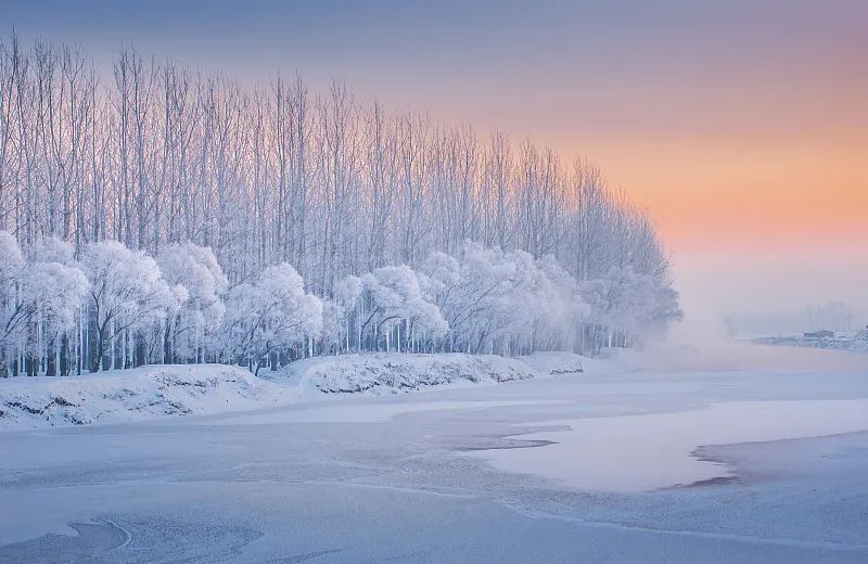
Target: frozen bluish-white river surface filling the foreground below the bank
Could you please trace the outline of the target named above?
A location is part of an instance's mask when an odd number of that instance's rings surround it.
[[[0,563],[868,562],[868,356],[744,347],[2,433]]]

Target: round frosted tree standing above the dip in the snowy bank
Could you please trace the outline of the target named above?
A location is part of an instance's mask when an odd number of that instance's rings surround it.
[[[272,356],[296,347],[322,330],[322,302],[304,289],[304,280],[290,265],[265,269],[253,283],[233,287],[227,297],[222,322],[226,355],[253,362],[255,373]]]

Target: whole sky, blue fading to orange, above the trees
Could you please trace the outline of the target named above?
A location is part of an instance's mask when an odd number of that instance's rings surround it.
[[[672,253],[682,332],[868,324],[868,2],[3,0],[0,27],[393,110],[598,163]],[[738,323],[737,323],[738,324]]]

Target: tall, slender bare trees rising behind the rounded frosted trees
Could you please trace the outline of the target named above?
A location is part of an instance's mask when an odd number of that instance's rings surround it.
[[[244,88],[123,51],[0,43],[0,229],[80,253],[214,249],[233,283],[286,261],[330,294],[346,274],[417,267],[465,240],[553,254],[579,280],[665,275],[647,214],[584,161],[359,103],[343,85]]]

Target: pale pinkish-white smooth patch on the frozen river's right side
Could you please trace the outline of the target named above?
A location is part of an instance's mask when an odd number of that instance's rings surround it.
[[[516,448],[478,457],[508,472],[532,473],[580,490],[647,491],[732,477],[698,458],[701,446],[797,439],[868,430],[868,399],[736,401],[675,413],[540,421]],[[538,448],[521,448],[527,441]]]

